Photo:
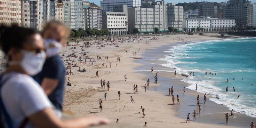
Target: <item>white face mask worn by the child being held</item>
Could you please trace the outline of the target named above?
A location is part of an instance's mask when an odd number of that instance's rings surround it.
[[[55,47],[50,47],[50,45]],[[60,52],[62,45],[53,39],[44,39],[44,48],[46,49],[46,56],[52,57]]]

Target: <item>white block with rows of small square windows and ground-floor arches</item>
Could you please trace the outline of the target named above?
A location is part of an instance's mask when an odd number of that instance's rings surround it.
[[[111,31],[111,35],[126,35],[127,31],[127,5],[114,5],[113,12],[102,13],[102,28]]]

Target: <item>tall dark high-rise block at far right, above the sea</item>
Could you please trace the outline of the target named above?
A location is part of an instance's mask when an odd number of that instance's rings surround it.
[[[223,18],[236,20],[238,27],[253,26],[253,5],[246,0],[229,0],[223,6]]]

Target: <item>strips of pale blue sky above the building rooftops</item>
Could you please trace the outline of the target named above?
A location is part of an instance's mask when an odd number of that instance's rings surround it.
[[[157,1],[157,0],[156,0]],[[166,3],[183,3],[183,2],[196,2],[196,1],[200,1],[200,0],[165,0]],[[209,2],[226,2],[228,0],[205,0],[205,1],[209,1]],[[251,0],[253,3],[256,2],[256,0]],[[94,4],[97,4],[100,6],[100,0],[89,0],[89,2],[94,2]]]

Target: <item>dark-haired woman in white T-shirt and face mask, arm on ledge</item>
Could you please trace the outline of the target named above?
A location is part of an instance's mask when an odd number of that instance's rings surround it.
[[[55,115],[43,89],[30,77],[41,71],[45,61],[43,38],[36,31],[18,26],[1,26],[0,44],[9,58],[0,88],[1,110],[6,112],[5,125],[80,128],[108,124],[108,120],[100,117],[62,121]]]

